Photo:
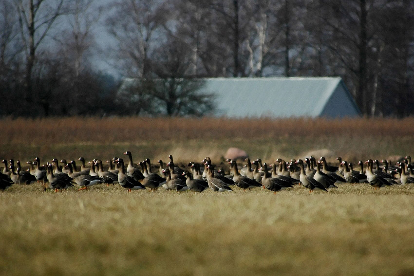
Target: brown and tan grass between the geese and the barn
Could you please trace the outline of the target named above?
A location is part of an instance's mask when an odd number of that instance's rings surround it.
[[[109,159],[125,150],[134,158],[218,161],[228,147],[253,158],[302,158],[329,149],[328,160],[348,161],[411,154],[414,118],[224,119],[224,118],[47,118],[0,120],[0,157]]]

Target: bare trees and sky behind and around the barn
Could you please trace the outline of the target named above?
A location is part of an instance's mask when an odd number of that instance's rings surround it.
[[[199,116],[213,104],[196,79],[340,76],[364,115],[405,117],[413,11],[412,0],[3,0],[0,114]],[[141,81],[120,94],[97,61]]]

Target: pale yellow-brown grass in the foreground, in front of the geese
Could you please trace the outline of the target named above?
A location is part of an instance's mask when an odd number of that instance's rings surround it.
[[[0,194],[0,275],[414,272],[414,188]]]

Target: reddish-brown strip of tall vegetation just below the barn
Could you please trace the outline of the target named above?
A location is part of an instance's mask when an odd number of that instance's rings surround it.
[[[138,142],[140,140],[245,139],[288,136],[413,136],[405,119],[45,118],[0,120],[0,143]]]

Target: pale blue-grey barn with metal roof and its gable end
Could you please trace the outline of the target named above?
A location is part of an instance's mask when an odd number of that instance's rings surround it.
[[[355,117],[360,112],[340,77],[206,78],[225,117]]]

